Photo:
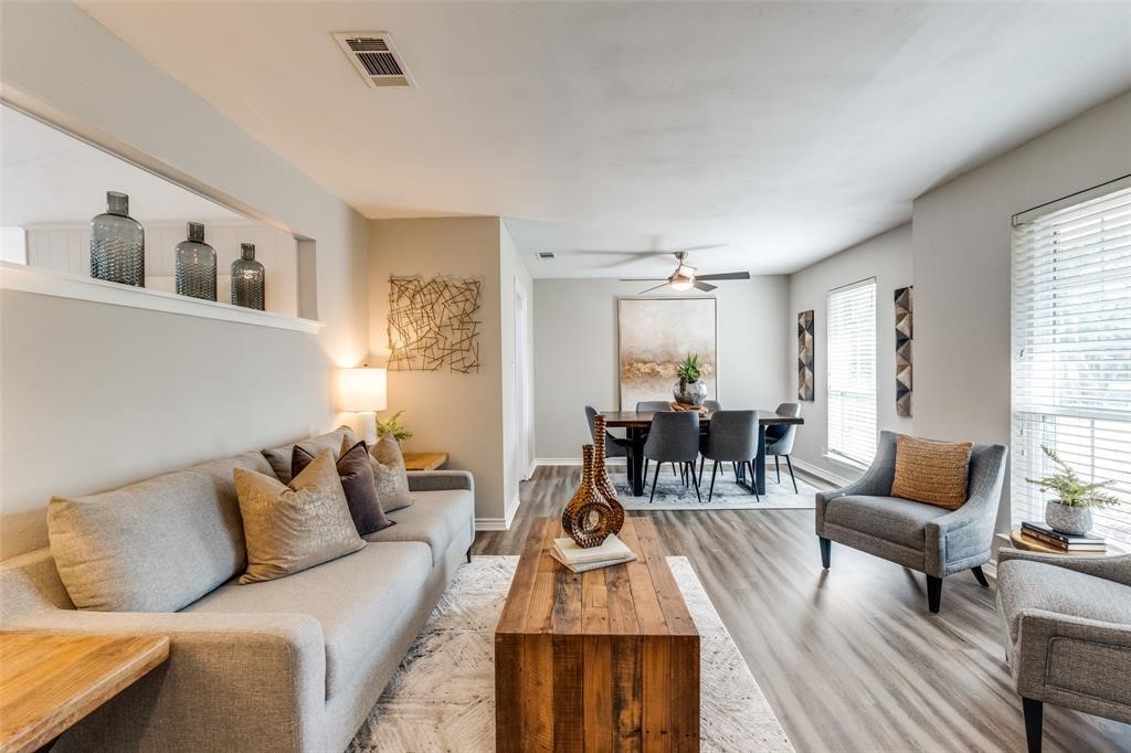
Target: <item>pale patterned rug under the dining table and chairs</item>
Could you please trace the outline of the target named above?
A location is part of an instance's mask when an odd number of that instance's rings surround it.
[[[749,490],[739,486],[729,465],[724,470],[719,464],[718,475],[715,477],[715,493],[710,502],[707,501],[707,490],[710,486],[709,465],[703,468],[703,478],[699,486],[702,501],[696,499],[694,487],[684,486],[680,476],[672,471],[672,466],[666,465],[659,471],[656,499],[649,503],[651,475],[653,470],[649,468],[644,496],[632,496],[623,466],[610,468],[610,476],[625,510],[812,510],[817,504],[813,499],[817,488],[798,478],[795,494],[785,468],[782,469],[782,483],[776,481],[772,468],[767,470],[766,494],[760,495],[760,502]]]

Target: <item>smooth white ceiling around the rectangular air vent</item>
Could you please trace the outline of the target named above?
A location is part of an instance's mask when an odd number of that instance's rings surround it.
[[[538,277],[789,272],[1131,88],[1129,2],[78,5],[369,217],[504,216]]]

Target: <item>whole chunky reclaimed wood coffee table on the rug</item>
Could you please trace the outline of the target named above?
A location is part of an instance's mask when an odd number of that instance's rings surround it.
[[[538,518],[495,629],[498,751],[698,751],[699,633],[644,518],[636,562],[575,574]]]

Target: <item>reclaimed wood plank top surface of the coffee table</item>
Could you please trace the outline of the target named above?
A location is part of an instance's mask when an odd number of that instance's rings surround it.
[[[625,518],[618,535],[636,562],[575,573],[550,555],[561,521],[533,520],[495,633],[698,635],[656,528]]]

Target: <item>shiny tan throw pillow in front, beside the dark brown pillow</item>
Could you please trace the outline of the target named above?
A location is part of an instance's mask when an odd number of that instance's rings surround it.
[[[233,475],[248,545],[241,583],[290,575],[365,546],[349,518],[333,451],[322,450],[288,486],[254,470],[236,468]]]

